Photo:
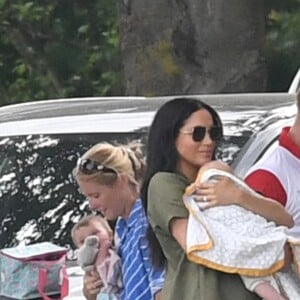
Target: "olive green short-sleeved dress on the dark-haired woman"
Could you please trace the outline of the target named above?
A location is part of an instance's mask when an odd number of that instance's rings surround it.
[[[172,237],[169,224],[175,218],[188,218],[182,195],[187,180],[174,173],[153,176],[148,188],[150,223],[167,258],[162,291],[163,300],[254,300],[239,275],[215,271],[187,260],[186,254]]]

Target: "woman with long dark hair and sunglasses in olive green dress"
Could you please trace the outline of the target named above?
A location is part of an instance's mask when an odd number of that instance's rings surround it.
[[[142,199],[153,230],[148,235],[153,262],[158,268],[166,267],[164,300],[258,299],[245,289],[240,276],[190,262],[185,253],[188,211],[182,196],[199,168],[215,159],[222,135],[217,112],[192,98],[168,101],[151,125]],[[277,224],[292,225],[280,204],[251,195],[230,179],[203,183],[197,194],[207,202],[206,208],[237,204]]]

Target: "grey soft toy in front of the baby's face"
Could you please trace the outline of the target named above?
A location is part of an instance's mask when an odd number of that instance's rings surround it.
[[[96,259],[99,252],[99,239],[96,235],[90,235],[84,240],[84,244],[78,248],[77,262],[86,272],[95,267]]]

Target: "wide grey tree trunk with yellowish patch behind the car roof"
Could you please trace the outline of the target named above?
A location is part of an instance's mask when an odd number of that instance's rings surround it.
[[[266,88],[261,0],[118,0],[127,95]]]

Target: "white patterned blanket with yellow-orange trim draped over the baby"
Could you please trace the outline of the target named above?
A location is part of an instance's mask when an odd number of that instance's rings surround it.
[[[208,169],[202,176],[202,182],[216,180],[218,176],[229,177],[250,193],[255,193],[236,176],[217,169]],[[193,194],[186,193],[183,200],[190,213],[187,256],[191,261],[250,277],[272,275],[282,268],[283,249],[288,239],[285,227],[276,226],[274,222],[268,222],[238,205],[202,210],[201,203],[194,200]],[[296,248],[297,244],[298,241],[292,241]],[[298,295],[290,299],[300,299],[300,284],[296,275],[288,272],[282,277],[292,277],[286,280],[291,284],[285,286],[292,290],[289,293]]]

